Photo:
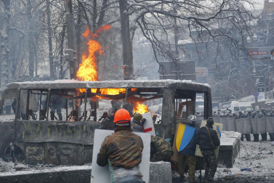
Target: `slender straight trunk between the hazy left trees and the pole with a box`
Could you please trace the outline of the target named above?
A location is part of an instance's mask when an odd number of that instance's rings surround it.
[[[52,37],[51,37],[51,14],[50,14],[50,4],[47,1],[47,23],[48,23],[48,35],[49,35],[49,71],[51,80],[54,80],[54,69],[53,69],[53,53],[52,53]]]

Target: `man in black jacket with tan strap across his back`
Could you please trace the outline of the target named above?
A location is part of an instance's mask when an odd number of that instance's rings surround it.
[[[208,118],[206,120],[206,127],[202,127],[198,130],[195,138],[196,144],[200,146],[202,155],[204,156],[204,167],[205,167],[205,176],[204,176],[204,182],[212,182],[215,172],[217,170],[217,160],[216,155],[214,152],[213,145],[219,146],[220,140],[217,136],[217,132],[213,130],[213,118]],[[208,133],[208,131],[209,133]],[[213,141],[213,144],[211,144],[211,139]]]

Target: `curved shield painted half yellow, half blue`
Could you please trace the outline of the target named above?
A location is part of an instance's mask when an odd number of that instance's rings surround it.
[[[195,128],[178,123],[176,133],[176,148],[181,152],[190,143],[195,132]]]

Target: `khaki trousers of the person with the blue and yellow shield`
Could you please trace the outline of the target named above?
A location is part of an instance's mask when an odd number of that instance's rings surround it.
[[[183,154],[179,154],[178,161],[178,173],[180,176],[184,176],[185,165],[188,165],[188,178],[190,181],[195,182],[195,166],[196,166],[196,157],[195,156],[187,156]]]

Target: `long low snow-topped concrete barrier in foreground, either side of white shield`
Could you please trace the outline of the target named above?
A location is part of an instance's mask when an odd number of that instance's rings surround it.
[[[150,183],[172,183],[169,162],[150,162]],[[90,183],[91,166],[63,166],[0,173],[0,183]],[[104,182],[102,182],[104,183]]]

